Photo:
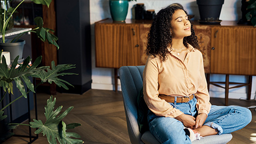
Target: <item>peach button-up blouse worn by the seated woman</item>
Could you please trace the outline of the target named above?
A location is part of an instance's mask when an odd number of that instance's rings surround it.
[[[160,99],[159,94],[173,97],[195,94],[198,114],[209,113],[210,95],[204,73],[203,55],[199,50],[189,45],[184,61],[172,51],[164,62],[159,57],[148,56],[143,71],[143,95],[148,108],[157,116],[177,117],[183,114]]]

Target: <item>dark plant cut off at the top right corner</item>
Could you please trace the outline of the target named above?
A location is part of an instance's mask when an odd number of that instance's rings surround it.
[[[256,0],[249,0],[247,6],[246,19],[251,21],[252,25],[256,27]]]

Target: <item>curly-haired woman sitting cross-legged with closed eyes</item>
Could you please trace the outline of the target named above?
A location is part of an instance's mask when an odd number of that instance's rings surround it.
[[[198,48],[185,10],[174,5],[157,13],[148,35],[143,94],[150,132],[161,143],[191,143],[251,122],[249,109],[211,105]]]

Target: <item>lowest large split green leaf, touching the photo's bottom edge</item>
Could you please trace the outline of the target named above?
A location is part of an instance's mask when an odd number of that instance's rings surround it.
[[[63,119],[73,109],[73,107],[69,107],[68,109],[63,111],[62,114],[60,114],[62,106],[53,110],[55,103],[56,98],[53,99],[52,96],[50,97],[50,99],[47,100],[44,113],[46,117],[46,122],[44,124],[41,120],[36,119],[34,119],[34,122],[30,122],[31,127],[38,128],[38,130],[36,130],[35,133],[43,133],[43,135],[46,135],[48,142],[52,144],[57,143],[57,140],[61,144],[83,143],[82,140],[70,138],[81,138],[77,133],[66,132],[67,127],[74,128],[81,124],[72,123],[66,125],[63,121],[61,121],[61,119]]]

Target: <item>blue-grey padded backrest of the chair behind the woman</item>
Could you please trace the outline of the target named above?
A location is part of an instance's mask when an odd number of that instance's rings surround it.
[[[143,143],[137,123],[137,96],[142,88],[145,66],[123,66],[119,69],[127,129],[131,143]]]

